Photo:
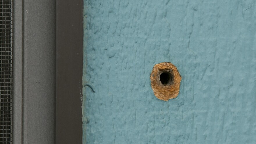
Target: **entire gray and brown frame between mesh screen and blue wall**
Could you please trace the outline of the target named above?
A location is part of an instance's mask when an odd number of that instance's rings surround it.
[[[13,144],[82,143],[82,0],[14,0]]]

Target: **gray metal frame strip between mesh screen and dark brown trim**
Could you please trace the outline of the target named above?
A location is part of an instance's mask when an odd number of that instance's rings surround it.
[[[54,143],[56,3],[13,4],[13,144]]]

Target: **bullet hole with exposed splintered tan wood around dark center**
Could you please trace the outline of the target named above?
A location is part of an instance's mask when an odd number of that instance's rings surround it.
[[[150,74],[154,95],[164,101],[178,96],[181,79],[177,67],[170,62],[154,65]]]

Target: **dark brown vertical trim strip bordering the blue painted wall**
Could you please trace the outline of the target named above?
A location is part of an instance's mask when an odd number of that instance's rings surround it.
[[[55,143],[82,143],[83,1],[56,0]]]

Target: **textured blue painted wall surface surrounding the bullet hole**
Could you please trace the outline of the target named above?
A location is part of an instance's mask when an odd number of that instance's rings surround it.
[[[256,143],[255,34],[255,0],[84,1],[84,143]],[[168,102],[150,87],[165,61]]]

